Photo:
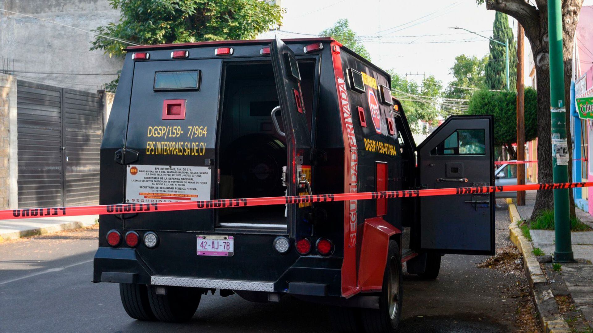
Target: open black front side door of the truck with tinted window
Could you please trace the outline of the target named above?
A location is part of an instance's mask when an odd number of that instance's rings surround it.
[[[417,152],[422,188],[494,185],[492,116],[449,117]],[[419,200],[419,251],[495,254],[494,193]]]

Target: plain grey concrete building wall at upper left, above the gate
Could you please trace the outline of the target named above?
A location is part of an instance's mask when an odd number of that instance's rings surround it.
[[[108,0],[0,0],[0,8],[84,30],[119,20],[119,11],[111,8]],[[0,12],[0,58],[8,59],[10,69],[14,60],[15,76],[25,81],[93,92],[101,89],[117,77],[114,73],[122,69],[123,60],[110,58],[101,50],[89,51],[93,40],[90,33]]]

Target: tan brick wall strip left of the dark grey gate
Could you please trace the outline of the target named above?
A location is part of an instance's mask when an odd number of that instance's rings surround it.
[[[0,74],[0,209],[17,208],[17,79]]]

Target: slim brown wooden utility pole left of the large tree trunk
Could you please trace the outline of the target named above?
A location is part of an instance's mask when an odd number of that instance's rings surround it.
[[[521,23],[517,22],[517,161],[525,161],[525,92],[523,87],[523,43],[523,26]],[[508,45],[508,41],[506,44]],[[524,184],[525,164],[517,164],[517,185]],[[517,191],[517,205],[525,206],[525,191]]]

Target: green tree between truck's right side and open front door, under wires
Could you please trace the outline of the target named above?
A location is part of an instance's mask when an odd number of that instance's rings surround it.
[[[415,81],[407,81],[405,76],[393,69],[387,73],[391,75],[391,90],[406,112],[410,129],[414,133],[420,133],[418,121],[431,122],[440,116],[436,99],[441,97],[441,81],[429,75],[419,85]]]

